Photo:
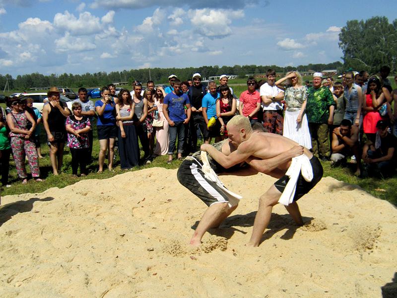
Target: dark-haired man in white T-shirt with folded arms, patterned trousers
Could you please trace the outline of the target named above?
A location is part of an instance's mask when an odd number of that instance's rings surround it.
[[[282,135],[284,117],[282,115],[281,100],[284,99],[284,91],[275,84],[276,72],[268,69],[267,82],[260,88],[262,99],[263,125],[267,133]]]

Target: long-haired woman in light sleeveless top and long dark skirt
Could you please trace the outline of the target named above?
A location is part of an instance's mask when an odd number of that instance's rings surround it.
[[[120,167],[124,170],[131,169],[139,164],[139,145],[133,125],[135,105],[132,101],[131,94],[127,89],[122,89],[118,97],[116,120],[119,123],[118,140]]]

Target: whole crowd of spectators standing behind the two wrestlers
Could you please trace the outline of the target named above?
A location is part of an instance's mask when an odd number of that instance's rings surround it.
[[[153,81],[132,83],[132,91],[115,94],[110,84],[101,89],[95,103],[80,88],[72,111],[60,101],[58,88],[48,91],[48,102],[42,111],[32,107],[32,100],[7,99],[0,110],[1,183],[8,185],[9,158],[12,156],[22,183],[27,182],[25,157],[32,177],[42,181],[39,171],[40,123],[43,123],[53,174],[62,168],[64,147],[71,153],[72,175],[87,175],[87,162],[92,158],[93,130],[96,122],[99,140],[98,172],[107,167],[113,171],[115,146],[122,169],[151,163],[159,155],[174,154],[182,159],[198,150],[198,140],[209,144],[226,139],[227,123],[236,114],[247,117],[268,133],[283,135],[311,149],[332,166],[354,163],[354,174],[392,175],[396,169],[397,90],[388,80],[390,69],[369,76],[345,72],[341,81],[313,75],[312,85],[297,71],[276,81],[269,69],[266,80],[247,79],[247,89],[239,98],[228,86],[227,75],[219,84],[201,84],[201,75],[181,81],[169,76],[167,88],[155,87]],[[397,76],[395,77],[397,82]],[[143,151],[140,154],[139,143]],[[178,141],[178,142],[177,142]],[[176,152],[175,152],[176,151]]]

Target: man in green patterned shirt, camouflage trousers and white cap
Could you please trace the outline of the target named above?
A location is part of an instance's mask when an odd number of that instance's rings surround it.
[[[308,88],[306,115],[312,138],[312,151],[322,160],[331,155],[328,125],[333,123],[335,101],[330,89],[321,86],[322,73],[313,74],[313,86]]]

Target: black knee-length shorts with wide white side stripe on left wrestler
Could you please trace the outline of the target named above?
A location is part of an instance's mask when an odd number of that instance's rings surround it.
[[[216,203],[228,203],[229,199],[222,189],[204,177],[201,164],[200,158],[186,157],[178,169],[178,181],[208,207]]]

